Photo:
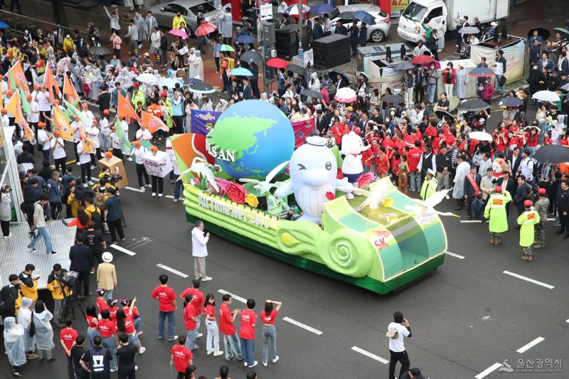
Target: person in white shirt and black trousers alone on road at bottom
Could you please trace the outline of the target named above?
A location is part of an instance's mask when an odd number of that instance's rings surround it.
[[[389,338],[389,379],[395,379],[395,365],[401,363],[401,370],[399,371],[398,378],[401,378],[403,373],[409,370],[409,356],[405,351],[404,337],[411,337],[411,328],[409,321],[403,319],[403,313],[396,311],[393,314],[393,322],[387,326],[387,333]]]

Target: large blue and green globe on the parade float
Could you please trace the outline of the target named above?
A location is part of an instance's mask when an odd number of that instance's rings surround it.
[[[263,179],[290,159],[294,132],[275,105],[245,100],[221,114],[208,134],[206,148],[231,177]]]

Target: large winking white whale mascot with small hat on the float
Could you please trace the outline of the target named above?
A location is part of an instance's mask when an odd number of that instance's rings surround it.
[[[304,211],[304,215],[299,218],[303,221],[320,224],[324,203],[329,201],[329,197],[334,198],[336,187],[351,187],[346,178],[336,178],[336,156],[322,137],[308,137],[307,143],[294,151],[290,158],[289,173],[290,181],[279,186],[275,196],[284,198],[294,191],[294,198]],[[342,191],[351,195],[349,189]]]

